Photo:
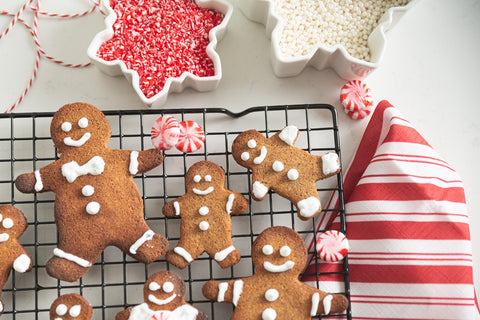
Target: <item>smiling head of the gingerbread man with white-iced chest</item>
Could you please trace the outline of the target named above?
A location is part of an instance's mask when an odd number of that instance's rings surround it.
[[[160,271],[148,278],[143,297],[151,310],[174,310],[185,304],[185,283],[173,272]]]

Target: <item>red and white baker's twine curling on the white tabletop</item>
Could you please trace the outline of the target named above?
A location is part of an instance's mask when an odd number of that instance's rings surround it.
[[[40,58],[44,57],[54,63],[60,64],[65,67],[70,67],[70,68],[82,68],[90,65],[90,63],[68,63],[64,62],[62,60],[56,59],[46,53],[46,51],[42,48],[42,45],[40,44],[40,41],[38,40],[38,18],[40,15],[45,16],[45,17],[53,17],[53,18],[78,18],[78,17],[83,17],[89,13],[92,13],[96,10],[98,10],[101,14],[105,15],[103,10],[101,9],[101,0],[89,0],[93,2],[93,6],[84,12],[81,13],[75,13],[75,14],[60,14],[60,13],[50,13],[50,12],[45,12],[40,10],[40,4],[41,0],[27,0],[17,12],[10,12],[6,10],[0,10],[0,15],[5,15],[5,16],[10,16],[12,17],[12,20],[10,21],[10,24],[7,26],[7,28],[0,34],[0,40],[6,36],[9,31],[12,30],[12,28],[15,26],[17,22],[20,22],[27,30],[30,32],[30,35],[32,36],[33,42],[35,44],[35,63],[33,66],[33,72],[32,76],[30,77],[25,89],[23,90],[21,96],[11,105],[8,109],[4,111],[4,113],[12,112],[15,107],[17,107],[25,98],[27,95],[28,91],[32,87],[33,81],[37,77],[38,74],[38,66],[40,64]],[[21,14],[26,11],[26,10],[31,10],[33,11],[33,27],[28,24],[27,21],[22,19],[20,16]]]

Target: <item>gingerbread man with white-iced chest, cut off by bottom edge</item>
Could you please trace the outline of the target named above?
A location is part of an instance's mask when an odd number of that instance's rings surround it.
[[[121,311],[115,320],[206,320],[207,315],[185,302],[185,284],[173,272],[160,271],[143,288],[145,302]]]

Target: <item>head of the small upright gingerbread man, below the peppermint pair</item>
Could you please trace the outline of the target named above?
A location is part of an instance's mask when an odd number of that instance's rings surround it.
[[[187,193],[205,196],[215,190],[224,189],[225,172],[222,167],[210,165],[211,162],[200,161],[192,165],[185,175]]]

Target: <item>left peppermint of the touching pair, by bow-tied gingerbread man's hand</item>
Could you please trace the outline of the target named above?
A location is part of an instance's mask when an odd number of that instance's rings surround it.
[[[160,150],[168,150],[178,143],[180,124],[172,116],[163,116],[155,121],[152,127],[153,146]]]

